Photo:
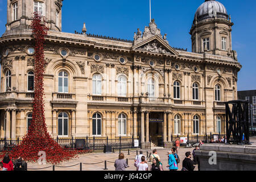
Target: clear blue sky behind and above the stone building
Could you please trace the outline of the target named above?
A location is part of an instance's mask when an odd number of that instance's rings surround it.
[[[9,0],[8,0],[9,1]],[[172,47],[191,51],[188,34],[197,7],[204,0],[151,0],[152,18],[166,33]],[[238,90],[256,89],[256,1],[220,0],[231,14],[233,49],[238,53],[242,69],[238,73]],[[7,0],[0,0],[0,35],[5,32]],[[64,0],[62,31],[82,30],[87,33],[133,39],[137,28],[144,30],[149,23],[149,0]]]

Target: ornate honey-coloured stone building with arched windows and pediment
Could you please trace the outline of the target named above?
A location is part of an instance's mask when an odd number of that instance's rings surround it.
[[[157,144],[177,134],[224,133],[223,102],[237,99],[241,64],[220,2],[197,9],[192,52],[172,47],[154,19],[133,41],[86,34],[85,24],[81,33],[61,32],[62,6],[62,0],[7,1],[0,38],[2,138],[23,137],[31,122],[34,10],[49,27],[44,91],[53,137],[133,136]]]

